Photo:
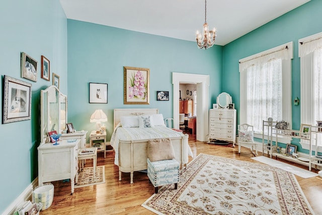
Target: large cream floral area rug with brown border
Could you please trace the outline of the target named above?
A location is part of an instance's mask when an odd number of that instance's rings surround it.
[[[200,154],[143,204],[157,214],[314,214],[293,174]]]

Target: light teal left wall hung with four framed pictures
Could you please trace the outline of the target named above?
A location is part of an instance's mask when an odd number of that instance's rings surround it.
[[[51,78],[50,82],[40,78],[41,55],[50,60],[50,73],[60,76],[60,89],[67,92],[67,21],[58,0],[6,0],[1,2],[0,29],[1,96],[4,75],[32,84],[31,120],[0,124],[0,213],[3,213],[38,176],[40,90],[52,83]],[[21,78],[21,52],[38,61],[37,82]]]

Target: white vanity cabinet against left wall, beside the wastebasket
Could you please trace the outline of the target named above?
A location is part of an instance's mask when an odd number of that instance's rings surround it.
[[[80,139],[73,142],[58,141],[59,145],[51,143],[38,147],[38,184],[70,179],[71,194],[74,192],[74,179],[77,183],[77,149]]]

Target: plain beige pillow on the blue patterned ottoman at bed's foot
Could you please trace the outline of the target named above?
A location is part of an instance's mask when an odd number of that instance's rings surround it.
[[[176,158],[171,139],[150,139],[147,144],[147,157],[151,162]]]

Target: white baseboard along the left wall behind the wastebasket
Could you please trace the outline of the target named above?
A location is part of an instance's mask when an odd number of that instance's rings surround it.
[[[32,192],[38,186],[38,177],[7,207],[2,215],[13,214],[25,201],[32,201]]]

